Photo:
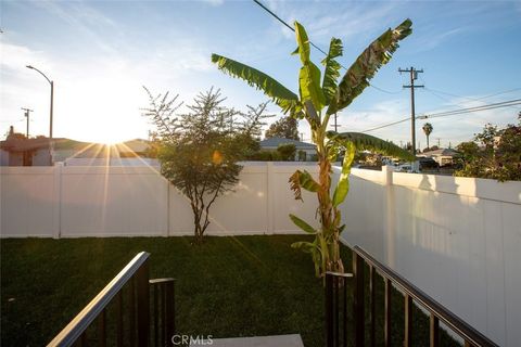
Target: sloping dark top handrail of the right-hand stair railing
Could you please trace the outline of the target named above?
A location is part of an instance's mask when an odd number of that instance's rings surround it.
[[[397,274],[394,270],[387,266],[381,264],[364,250],[359,246],[353,247],[353,250],[359,255],[370,266],[377,269],[385,279],[391,280],[391,282],[399,286],[406,295],[409,295],[414,300],[421,304],[427,308],[432,314],[436,316],[441,321],[443,321],[447,326],[449,326],[454,332],[461,336],[466,343],[470,343],[473,346],[492,346],[496,347],[494,342],[484,336],[482,333],[476,331],[474,327],[470,326],[461,318],[457,317],[449,310],[447,310],[443,305],[434,300],[432,297],[423,293],[416,285]]]

